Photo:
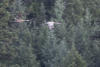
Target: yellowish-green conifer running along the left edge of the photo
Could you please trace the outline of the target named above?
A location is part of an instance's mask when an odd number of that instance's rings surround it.
[[[10,31],[8,22],[10,20],[10,12],[8,11],[9,1],[0,1],[0,65],[6,67],[13,56],[11,53],[11,43],[13,42],[14,33]]]

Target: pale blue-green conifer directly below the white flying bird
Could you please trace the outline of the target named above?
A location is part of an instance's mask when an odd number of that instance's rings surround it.
[[[66,57],[66,43],[64,40],[60,44],[57,44],[53,30],[48,31],[48,37],[44,45],[41,48],[41,61],[46,67],[62,67],[64,58]]]

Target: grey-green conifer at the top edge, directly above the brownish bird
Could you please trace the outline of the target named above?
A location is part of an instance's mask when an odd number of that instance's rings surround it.
[[[12,17],[25,18],[25,3],[22,0],[14,0],[10,6]],[[24,16],[24,17],[23,17]]]

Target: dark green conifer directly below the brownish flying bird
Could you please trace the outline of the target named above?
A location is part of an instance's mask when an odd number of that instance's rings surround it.
[[[15,63],[18,63],[21,67],[39,67],[39,63],[36,60],[34,53],[34,43],[32,37],[32,32],[29,28],[24,26],[23,31],[18,32],[18,44],[15,46],[16,57]]]

